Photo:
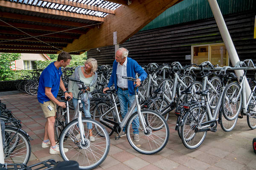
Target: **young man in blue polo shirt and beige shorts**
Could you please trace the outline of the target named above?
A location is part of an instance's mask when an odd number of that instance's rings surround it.
[[[59,147],[55,142],[54,137],[54,123],[55,115],[57,112],[57,105],[62,108],[66,108],[65,102],[59,102],[56,99],[58,95],[58,90],[61,88],[64,91],[65,98],[70,96],[64,83],[61,80],[61,67],[66,67],[70,64],[72,57],[66,52],[61,52],[58,55],[58,60],[52,62],[44,69],[39,79],[38,86],[38,102],[41,105],[41,108],[44,112],[44,116],[47,119],[44,128],[44,141],[42,142],[42,147],[50,147],[50,154],[60,153]],[[70,96],[71,97],[71,96]],[[64,152],[67,152],[68,149],[64,148]]]

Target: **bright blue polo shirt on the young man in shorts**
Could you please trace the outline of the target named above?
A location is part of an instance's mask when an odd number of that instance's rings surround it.
[[[38,86],[38,102],[44,104],[44,102],[50,101],[50,99],[45,95],[45,87],[52,88],[52,95],[56,98],[58,95],[58,90],[60,88],[61,81],[61,67],[57,69],[54,62],[49,64],[47,68],[41,73]]]

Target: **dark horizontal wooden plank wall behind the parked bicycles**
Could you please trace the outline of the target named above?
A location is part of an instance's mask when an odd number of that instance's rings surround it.
[[[256,11],[224,15],[231,38],[241,60],[251,58],[256,63],[256,39],[253,39]],[[167,26],[134,34],[128,41],[120,44],[129,50],[129,57],[139,64],[171,63],[179,61],[182,65],[190,63],[185,56],[191,54],[192,45],[223,42],[214,18],[197,20]],[[97,59],[99,65],[113,64],[114,46],[91,49],[87,57]]]

